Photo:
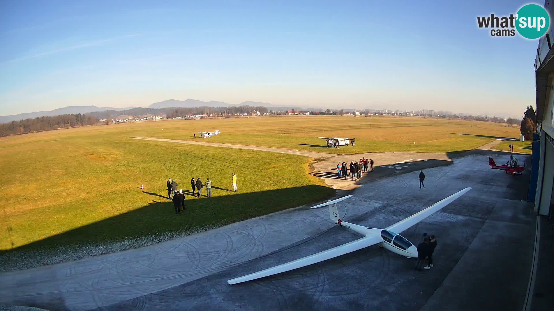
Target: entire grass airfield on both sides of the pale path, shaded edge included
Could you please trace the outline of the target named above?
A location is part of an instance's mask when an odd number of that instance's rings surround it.
[[[75,259],[71,252],[78,248],[94,248],[87,256],[140,247],[334,193],[306,174],[311,163],[307,157],[129,139],[194,139],[193,133],[216,129],[222,134],[196,139],[362,153],[456,152],[493,137],[519,137],[517,128],[488,122],[285,116],[130,122],[2,138],[0,266],[18,268],[22,254],[52,255],[61,262]],[[356,137],[357,143],[322,148],[325,142],[316,136]],[[232,172],[238,175],[238,193],[228,191]],[[214,188],[211,199],[187,195],[187,212],[175,215],[165,180],[174,178],[178,188],[188,191],[192,177],[204,182],[209,177],[220,189]],[[44,263],[50,262],[38,264]]]

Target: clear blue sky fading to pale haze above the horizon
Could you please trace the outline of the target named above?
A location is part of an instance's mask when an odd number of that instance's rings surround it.
[[[2,1],[0,115],[187,98],[506,117],[535,105],[538,41],[476,23],[525,1],[264,2]]]

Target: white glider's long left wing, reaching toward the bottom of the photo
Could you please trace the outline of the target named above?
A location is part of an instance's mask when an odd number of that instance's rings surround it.
[[[279,265],[273,268],[268,268],[259,272],[250,273],[247,276],[230,279],[229,281],[227,281],[227,283],[233,285],[233,284],[242,283],[246,281],[252,281],[253,279],[273,276],[274,274],[277,274],[277,273],[291,271],[297,268],[312,265],[317,262],[321,262],[341,255],[345,255],[353,251],[361,250],[364,247],[372,246],[382,241],[383,239],[379,235],[362,237],[362,239],[358,239],[356,241],[343,244],[341,246],[333,247],[329,250],[322,251],[314,255],[300,258],[291,262],[283,263],[283,265]]]

